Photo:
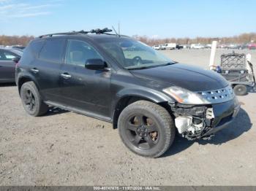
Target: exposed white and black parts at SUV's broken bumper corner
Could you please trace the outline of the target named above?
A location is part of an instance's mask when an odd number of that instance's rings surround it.
[[[211,139],[211,136],[203,136],[211,129],[214,120],[213,108],[207,106],[189,106],[170,104],[175,115],[175,125],[178,133],[189,140]]]

